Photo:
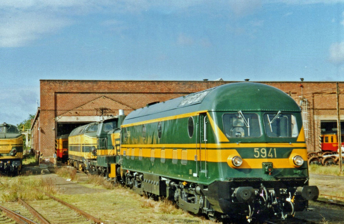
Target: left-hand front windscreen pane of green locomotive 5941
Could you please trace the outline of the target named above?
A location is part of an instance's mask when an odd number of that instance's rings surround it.
[[[256,138],[261,136],[257,114],[246,114],[238,111],[235,114],[224,114],[222,120],[228,138]]]

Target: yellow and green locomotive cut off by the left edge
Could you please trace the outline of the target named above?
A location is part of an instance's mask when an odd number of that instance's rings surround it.
[[[23,136],[18,128],[0,124],[0,172],[18,174],[23,161]]]

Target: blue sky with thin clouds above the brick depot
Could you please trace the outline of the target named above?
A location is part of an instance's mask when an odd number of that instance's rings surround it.
[[[40,79],[344,81],[343,64],[344,0],[0,2],[0,122],[35,114]]]

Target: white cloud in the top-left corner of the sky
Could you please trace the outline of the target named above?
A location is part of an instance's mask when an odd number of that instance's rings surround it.
[[[95,4],[89,0],[2,0],[0,47],[22,47],[57,33],[73,23],[70,17],[99,10]]]

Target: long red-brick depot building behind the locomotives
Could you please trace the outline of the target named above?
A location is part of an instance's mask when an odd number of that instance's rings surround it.
[[[152,102],[223,85],[227,81],[40,80],[41,107],[31,126],[31,148],[40,164],[55,165],[55,138],[75,127],[125,114]],[[290,95],[302,108],[309,151],[319,150],[321,131],[336,130],[336,82],[259,82]],[[338,83],[343,91],[344,82]],[[344,120],[344,96],[339,95]],[[343,103],[342,103],[343,102]],[[342,123],[344,128],[344,122]]]

